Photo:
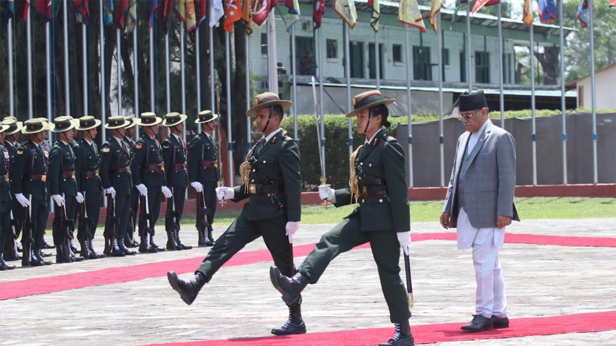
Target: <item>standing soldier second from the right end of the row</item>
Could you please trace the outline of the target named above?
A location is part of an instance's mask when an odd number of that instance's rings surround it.
[[[184,132],[184,121],[188,118],[185,114],[168,113],[164,116],[163,126],[169,127],[171,135],[163,140],[161,147],[163,148],[164,175],[167,185],[171,187],[173,193],[172,203],[175,206],[177,215],[176,222],[179,225],[182,213],[184,212],[184,200],[186,188],[188,187],[188,173],[186,172],[186,143],[180,138]],[[169,199],[167,199],[169,205]],[[168,209],[171,208],[168,206]],[[177,236],[177,238],[176,238]],[[180,231],[177,234],[173,231],[167,231],[167,249],[168,250],[190,250],[192,246],[182,244],[180,240]]]

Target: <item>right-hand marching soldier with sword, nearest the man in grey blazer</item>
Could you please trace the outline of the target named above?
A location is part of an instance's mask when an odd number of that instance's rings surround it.
[[[319,187],[319,196],[336,207],[355,201],[359,206],[321,237],[292,278],[280,267],[271,268],[270,278],[286,304],[291,304],[307,284],[317,283],[336,256],[370,243],[389,318],[395,325],[394,337],[381,345],[413,345],[408,297],[398,265],[400,246],[408,254],[411,242],[404,151],[381,129],[390,125],[387,105],[392,102],[394,99],[386,99],[376,90],[353,98],[354,110],[347,118],[357,116],[357,131],[366,135],[366,141],[351,156],[351,187],[333,190],[324,185]]]

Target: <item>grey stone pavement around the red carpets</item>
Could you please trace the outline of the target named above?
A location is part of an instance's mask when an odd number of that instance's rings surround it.
[[[508,233],[597,236],[616,239],[614,219],[527,220]],[[302,224],[296,245],[315,243],[333,225]],[[182,239],[197,244],[183,226]],[[225,227],[215,227],[215,236]],[[164,244],[163,226],[157,243]],[[436,222],[411,223],[412,233],[441,232]],[[451,231],[451,230],[447,230]],[[455,230],[454,230],[455,231]],[[102,235],[102,233],[99,233]],[[51,241],[49,236],[47,241]],[[95,240],[102,249],[102,236]],[[257,239],[243,251],[265,249]],[[203,257],[208,248],[87,260],[0,272],[0,283],[134,264]],[[505,244],[500,251],[509,318],[616,310],[616,248]],[[303,257],[296,257],[299,264]],[[16,264],[17,262],[12,262]],[[168,342],[267,337],[288,311],[261,262],[222,268],[190,306],[166,277],[0,300],[0,345],[144,345]],[[403,260],[400,259],[403,268]],[[166,268],[173,270],[174,268]],[[455,241],[411,244],[415,307],[413,325],[464,324],[474,312],[471,252]],[[190,278],[191,274],[182,275]],[[304,291],[308,332],[392,328],[370,249],[336,258],[321,280]],[[605,321],[598,320],[601,325]],[[457,327],[456,327],[457,328]],[[392,328],[393,331],[393,328]],[[386,340],[383,340],[386,341]],[[241,344],[234,342],[234,344]],[[443,342],[442,345],[616,345],[616,331]]]

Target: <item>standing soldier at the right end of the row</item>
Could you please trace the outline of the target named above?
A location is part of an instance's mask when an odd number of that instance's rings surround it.
[[[199,246],[214,245],[212,223],[216,213],[216,185],[221,177],[216,164],[216,140],[212,137],[217,118],[218,115],[211,111],[199,113],[195,123],[201,124],[201,133],[193,137],[188,150],[188,181],[197,190],[197,195],[203,192],[205,207],[209,209],[207,230],[201,230],[197,220]]]

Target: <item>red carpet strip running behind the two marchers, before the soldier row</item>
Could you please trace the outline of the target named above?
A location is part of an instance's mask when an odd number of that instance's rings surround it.
[[[455,240],[454,232],[447,233],[416,233],[413,241],[426,240]],[[507,233],[506,243],[539,244],[559,246],[603,246],[616,247],[616,238],[579,237],[579,236],[544,236]],[[296,257],[306,256],[312,251],[314,244],[295,246],[293,248]],[[355,249],[367,249],[370,244],[363,244]],[[153,255],[155,256],[155,255]],[[166,276],[169,270],[176,273],[190,273],[197,269],[202,257],[184,260],[171,260],[153,262],[148,264],[131,265],[127,267],[114,267],[92,272],[82,272],[68,275],[49,276],[30,280],[11,281],[0,284],[0,300],[14,299],[18,297],[33,296],[34,294],[46,294],[78,289],[104,284],[127,283],[131,281],[158,278]],[[271,261],[272,256],[267,250],[238,252],[224,267],[235,265],[248,265],[257,262]]]

